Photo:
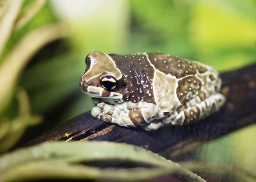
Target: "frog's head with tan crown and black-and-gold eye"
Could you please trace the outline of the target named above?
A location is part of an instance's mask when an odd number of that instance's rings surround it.
[[[80,88],[84,93],[111,104],[129,97],[122,73],[109,55],[94,51],[87,55],[85,63],[87,67],[80,78]]]

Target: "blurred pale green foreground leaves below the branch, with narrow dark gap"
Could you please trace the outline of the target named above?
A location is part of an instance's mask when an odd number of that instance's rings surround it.
[[[104,150],[102,150],[104,149]],[[81,162],[136,162],[152,168],[98,169]],[[186,181],[204,179],[141,147],[111,142],[49,142],[0,157],[0,181],[35,179],[143,180],[172,174]]]

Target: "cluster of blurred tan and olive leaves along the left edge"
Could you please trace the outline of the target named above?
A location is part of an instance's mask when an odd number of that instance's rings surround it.
[[[21,40],[8,50],[6,57],[2,57],[5,45],[13,32],[19,31],[40,9],[46,0],[38,0],[29,4],[20,12],[20,1],[5,0],[1,1],[2,6],[0,17],[0,152],[8,150],[22,136],[24,129],[29,125],[38,124],[41,117],[30,114],[29,99],[25,90],[17,88],[17,79],[32,56],[41,47],[50,41],[62,38],[66,32],[61,30],[61,24],[52,24],[30,31]],[[13,94],[17,94],[19,101],[19,113],[14,118],[6,118],[4,111],[12,101]]]

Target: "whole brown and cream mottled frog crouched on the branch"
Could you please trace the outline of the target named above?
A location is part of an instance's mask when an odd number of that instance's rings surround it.
[[[218,71],[161,52],[90,52],[80,78],[92,98],[91,115],[121,127],[157,130],[199,121],[224,106]]]

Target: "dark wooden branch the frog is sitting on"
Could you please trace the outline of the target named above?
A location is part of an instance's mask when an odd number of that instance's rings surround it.
[[[221,77],[222,93],[227,97],[225,107],[195,124],[163,127],[148,132],[140,128],[107,124],[86,112],[38,136],[26,146],[57,140],[124,142],[155,153],[168,151],[168,158],[175,159],[203,142],[256,123],[256,64],[224,72]]]

